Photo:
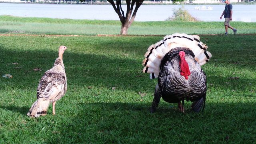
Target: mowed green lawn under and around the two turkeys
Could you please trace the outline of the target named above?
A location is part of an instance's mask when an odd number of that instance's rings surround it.
[[[141,64],[148,46],[162,38],[0,36],[0,74],[13,76],[0,78],[0,143],[254,143],[255,36],[200,36],[212,53],[202,66],[204,112],[191,112],[185,102],[183,114],[161,100],[150,114],[157,80],[142,73]],[[50,106],[46,116],[29,118],[38,81],[60,45],[68,47],[67,93],[55,116]]]

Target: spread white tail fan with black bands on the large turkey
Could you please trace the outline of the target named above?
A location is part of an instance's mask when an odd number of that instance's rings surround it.
[[[195,60],[203,65],[210,60],[212,54],[207,50],[208,46],[200,41],[197,35],[175,33],[167,35],[163,40],[148,47],[145,59],[142,62],[144,66],[143,72],[150,74],[150,79],[157,78],[160,72],[160,62],[164,55],[171,49],[177,47],[185,47],[192,50],[195,55]]]

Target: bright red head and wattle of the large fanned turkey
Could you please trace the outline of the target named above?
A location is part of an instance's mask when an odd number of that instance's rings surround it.
[[[184,76],[186,80],[188,79],[188,76],[190,75],[190,70],[188,67],[188,63],[185,60],[185,52],[180,51],[180,75]]]

